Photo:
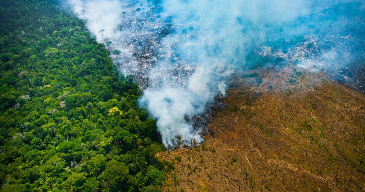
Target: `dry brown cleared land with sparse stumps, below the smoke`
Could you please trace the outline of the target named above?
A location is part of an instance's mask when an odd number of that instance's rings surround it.
[[[364,191],[365,95],[292,65],[257,74],[235,77],[205,143],[158,154],[162,191]]]

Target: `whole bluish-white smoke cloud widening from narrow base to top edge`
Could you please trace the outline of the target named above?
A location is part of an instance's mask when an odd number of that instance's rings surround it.
[[[190,120],[205,113],[217,94],[226,95],[227,77],[247,68],[249,54],[266,55],[257,50],[270,47],[268,56],[313,72],[348,64],[353,52],[342,48],[355,39],[342,33],[359,22],[351,23],[357,14],[336,10],[346,11],[349,4],[364,12],[361,1],[350,0],[163,0],[150,3],[154,11],[132,0],[69,3],[99,42],[121,50],[112,56],[120,70],[146,82],[139,102],[157,119],[166,147],[203,141]],[[298,37],[303,41],[296,42]],[[343,55],[348,57],[341,64]]]

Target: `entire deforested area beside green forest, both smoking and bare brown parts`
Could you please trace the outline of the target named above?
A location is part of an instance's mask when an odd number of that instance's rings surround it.
[[[364,190],[362,2],[76,4],[143,91],[163,191]]]

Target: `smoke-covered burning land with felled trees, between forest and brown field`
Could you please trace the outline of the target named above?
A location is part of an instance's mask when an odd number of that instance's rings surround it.
[[[82,18],[94,37],[112,53],[127,79],[144,91],[139,104],[157,119],[168,148],[203,141],[200,135],[211,108],[224,106],[217,98],[226,96],[232,84],[228,79],[237,74],[258,73],[254,79],[260,83],[263,71],[296,65],[364,90],[363,12],[346,12],[355,4],[318,4],[310,10],[314,5],[301,2],[293,4],[301,10],[296,14],[267,18],[264,12],[280,15],[289,10],[263,4],[257,15],[222,12],[212,17],[216,10],[189,10],[184,3],[165,1],[149,10],[140,3],[124,1],[114,11],[98,8],[118,18],[108,20],[105,29],[88,1],[84,7],[74,3],[74,11],[84,11]],[[231,3],[212,5],[235,9]],[[309,10],[303,12],[303,5]],[[260,22],[253,22],[256,18]]]

